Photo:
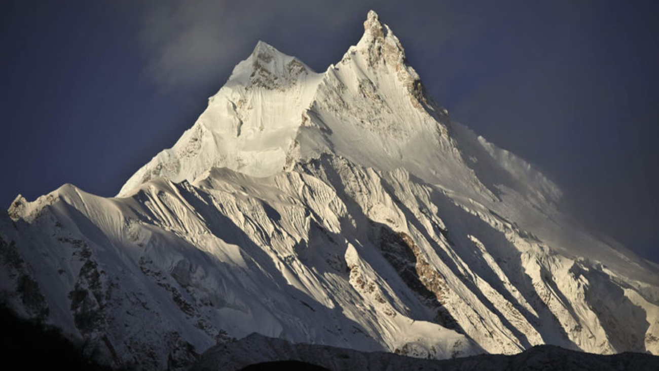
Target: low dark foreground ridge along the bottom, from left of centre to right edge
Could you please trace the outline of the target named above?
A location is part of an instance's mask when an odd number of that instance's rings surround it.
[[[252,334],[212,347],[194,370],[275,370],[277,361],[304,362],[297,370],[441,370],[441,371],[656,371],[659,356],[643,353],[600,355],[540,345],[504,356],[482,354],[449,360],[426,360],[391,353],[362,353],[323,345],[291,344]]]

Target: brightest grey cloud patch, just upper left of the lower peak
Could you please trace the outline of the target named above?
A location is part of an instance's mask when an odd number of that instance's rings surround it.
[[[235,64],[235,53],[244,53],[246,45],[262,31],[263,13],[247,17],[246,11],[231,1],[151,5],[140,32],[148,73],[161,86],[175,88],[225,72]]]

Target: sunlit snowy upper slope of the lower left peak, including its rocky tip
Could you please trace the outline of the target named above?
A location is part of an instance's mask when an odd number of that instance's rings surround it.
[[[208,108],[171,149],[136,172],[119,197],[147,180],[194,178],[212,167],[252,176],[283,169],[287,151],[322,75],[295,57],[258,42],[229,81],[208,98]]]

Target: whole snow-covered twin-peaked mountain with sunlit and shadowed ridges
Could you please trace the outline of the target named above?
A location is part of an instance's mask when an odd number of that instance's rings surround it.
[[[5,303],[140,369],[254,332],[421,358],[659,354],[659,268],[451,121],[376,13],[364,29],[324,73],[259,42],[117,197],[19,195]]]

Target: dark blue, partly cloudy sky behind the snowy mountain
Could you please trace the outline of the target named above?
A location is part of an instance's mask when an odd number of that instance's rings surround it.
[[[257,40],[324,71],[368,9],[453,119],[659,261],[659,1],[3,1],[0,203],[115,195]]]

